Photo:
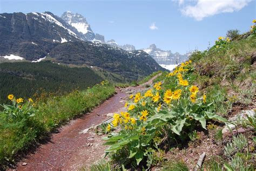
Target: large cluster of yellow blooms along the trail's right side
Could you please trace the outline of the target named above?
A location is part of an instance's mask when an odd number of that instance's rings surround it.
[[[163,92],[161,90],[162,83],[159,81],[153,85],[153,88],[150,88],[144,94],[138,92],[134,95],[130,95],[132,102],[126,102],[124,105],[124,107],[127,107],[127,112],[120,112],[120,114],[114,113],[113,121],[107,126],[107,131],[111,130],[111,125],[113,127],[120,125],[125,129],[133,129],[137,126],[137,121],[147,121],[147,117],[154,113],[152,112],[152,107],[156,107],[156,111],[159,112],[162,107],[168,106],[172,101],[178,101],[183,93],[186,98],[186,92],[190,92],[191,102],[196,102],[199,88],[195,85],[187,87],[189,82],[187,79],[184,79],[186,75],[183,75],[188,71],[188,69],[190,69],[190,66],[188,65],[191,63],[191,60],[181,63],[181,65],[176,67],[173,72],[167,74],[166,77],[174,77],[175,80],[178,81],[176,90],[172,91],[171,89],[167,89]],[[161,97],[161,94],[163,94],[163,98]],[[164,103],[161,104],[162,102]],[[203,95],[203,102],[206,102],[205,94]],[[136,113],[139,113],[138,116]],[[143,132],[145,133],[145,130],[142,130],[142,134]]]

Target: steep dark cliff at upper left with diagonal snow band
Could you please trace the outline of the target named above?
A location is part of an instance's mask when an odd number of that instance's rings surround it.
[[[51,12],[2,13],[0,56],[16,54],[28,60],[45,57],[58,43],[82,40],[78,32]]]

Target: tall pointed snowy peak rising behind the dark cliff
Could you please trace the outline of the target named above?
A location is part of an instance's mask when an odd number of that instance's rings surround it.
[[[80,32],[79,36],[84,40],[93,40],[95,38],[95,33],[93,33],[90,24],[88,24],[86,18],[79,13],[72,13],[71,11],[66,11],[63,13],[61,18],[66,23],[76,28],[77,31]]]

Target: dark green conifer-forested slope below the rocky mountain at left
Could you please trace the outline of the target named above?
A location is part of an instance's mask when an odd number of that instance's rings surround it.
[[[40,63],[1,63],[0,64],[0,103],[6,103],[6,94],[20,97],[33,97],[36,93],[64,94],[72,90],[84,90],[103,79],[87,67],[67,67]],[[35,97],[33,97],[35,98]]]

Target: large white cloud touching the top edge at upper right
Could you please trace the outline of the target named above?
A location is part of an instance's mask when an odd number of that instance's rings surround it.
[[[195,5],[184,4],[181,8],[183,15],[202,20],[218,13],[234,12],[244,8],[252,0],[196,0]],[[179,0],[179,4],[184,3]]]

